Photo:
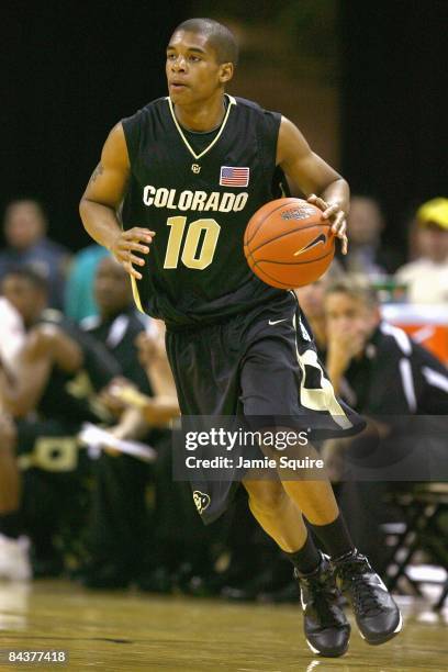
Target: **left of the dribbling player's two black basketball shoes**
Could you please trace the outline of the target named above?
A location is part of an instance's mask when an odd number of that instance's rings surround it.
[[[294,569],[304,616],[305,638],[313,653],[337,658],[344,656],[350,638],[350,624],[337,605],[340,596],[326,556],[314,572],[302,574]]]

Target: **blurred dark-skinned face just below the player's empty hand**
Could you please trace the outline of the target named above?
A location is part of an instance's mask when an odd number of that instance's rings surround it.
[[[102,259],[94,280],[94,299],[101,313],[120,313],[132,303],[131,285],[125,270],[114,259]]]

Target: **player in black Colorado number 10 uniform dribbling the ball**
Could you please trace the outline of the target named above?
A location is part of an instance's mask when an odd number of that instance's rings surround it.
[[[352,433],[361,421],[335,399],[295,296],[258,280],[243,254],[248,220],[277,193],[277,167],[332,220],[343,251],[349,189],[290,121],[225,93],[236,61],[233,34],[215,21],[176,29],[167,47],[169,97],[113,127],[81,200],[82,222],[130,273],[137,305],[165,321],[183,414],[239,411],[289,416],[291,425],[306,414],[328,432]],[[116,215],[122,201],[124,229]],[[250,511],[294,565],[314,652],[347,650],[350,628],[337,586],[369,643],[401,629],[400,612],[354,548],[327,481],[244,485]],[[205,523],[221,515],[233,491],[232,483],[201,482],[193,497]]]

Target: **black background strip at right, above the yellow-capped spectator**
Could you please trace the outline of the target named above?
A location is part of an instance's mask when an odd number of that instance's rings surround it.
[[[388,235],[448,195],[446,0],[340,0],[341,168],[377,195]]]

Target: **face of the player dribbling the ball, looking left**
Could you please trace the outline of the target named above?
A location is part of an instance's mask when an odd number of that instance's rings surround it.
[[[167,47],[166,74],[175,104],[189,105],[210,99],[231,76],[231,64],[219,64],[208,37],[178,31]]]

